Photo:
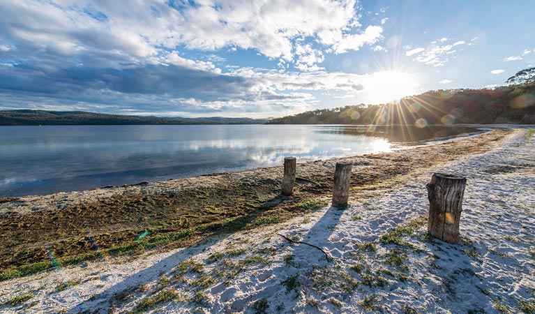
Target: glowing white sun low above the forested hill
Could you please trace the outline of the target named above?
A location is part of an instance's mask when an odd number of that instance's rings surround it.
[[[372,103],[391,103],[416,94],[419,84],[414,74],[386,70],[369,75],[363,86]]]

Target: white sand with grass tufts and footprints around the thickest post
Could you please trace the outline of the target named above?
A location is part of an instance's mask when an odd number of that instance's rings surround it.
[[[428,172],[377,190],[375,197],[350,199],[343,211],[325,207],[191,248],[130,260],[106,257],[6,281],[0,304],[33,297],[0,312],[124,313],[172,291],[173,301],[146,312],[255,313],[253,304],[265,298],[267,313],[497,313],[499,306],[520,313],[522,302],[535,299],[535,137],[527,140],[525,133],[518,130],[502,147],[432,170],[468,179],[457,245],[425,237],[425,225],[401,238],[410,245],[379,241],[427,213]],[[323,247],[335,260],[276,233]],[[359,248],[367,242],[377,251]],[[183,262],[190,259],[202,270],[187,268]],[[232,278],[231,271],[237,271]],[[287,292],[292,279],[299,285]]]

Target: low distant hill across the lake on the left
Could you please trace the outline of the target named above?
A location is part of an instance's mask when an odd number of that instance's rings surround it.
[[[0,126],[67,126],[131,124],[263,124],[250,118],[160,118],[99,114],[82,111],[0,110]]]

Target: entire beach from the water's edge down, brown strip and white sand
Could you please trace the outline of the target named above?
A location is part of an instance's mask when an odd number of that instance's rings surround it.
[[[532,131],[499,129],[299,164],[292,197],[280,195],[282,167],[271,167],[5,198],[0,270],[52,268],[4,280],[0,311],[534,313],[533,151]],[[329,205],[340,160],[353,163],[343,210]],[[426,234],[433,172],[468,180],[455,245]]]

